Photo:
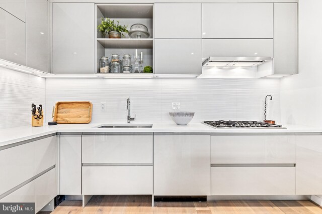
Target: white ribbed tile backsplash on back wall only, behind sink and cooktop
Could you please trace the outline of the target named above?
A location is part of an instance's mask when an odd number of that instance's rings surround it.
[[[268,119],[280,121],[279,79],[46,79],[46,121],[58,101],[91,101],[93,123],[126,122],[131,97],[135,122],[172,122],[171,103],[194,111],[192,122],[263,120],[265,96],[271,94]],[[106,111],[100,110],[106,102]]]

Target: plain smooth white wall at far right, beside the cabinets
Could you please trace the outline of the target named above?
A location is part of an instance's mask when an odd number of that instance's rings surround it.
[[[299,0],[299,74],[281,81],[281,120],[322,126],[322,1]]]

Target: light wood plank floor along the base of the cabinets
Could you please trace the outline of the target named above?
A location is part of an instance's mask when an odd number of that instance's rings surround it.
[[[42,212],[43,214],[44,212]],[[48,213],[48,212],[47,212]],[[49,212],[50,213],[50,212]],[[227,200],[213,202],[156,202],[151,207],[150,196],[93,196],[86,207],[82,201],[63,201],[51,214],[92,213],[322,213],[311,201]]]

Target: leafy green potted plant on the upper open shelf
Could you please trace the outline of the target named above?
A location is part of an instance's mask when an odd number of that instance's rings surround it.
[[[101,32],[102,37],[105,37],[106,34],[109,35],[109,38],[121,38],[121,34],[123,32],[128,33],[126,25],[120,25],[119,21],[116,21],[114,23],[114,20],[111,20],[109,18],[102,18],[102,22],[100,25],[97,26],[97,29],[99,32]]]

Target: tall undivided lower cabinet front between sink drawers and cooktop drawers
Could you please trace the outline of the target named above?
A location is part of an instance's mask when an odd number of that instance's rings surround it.
[[[154,195],[210,195],[210,135],[155,134]]]

